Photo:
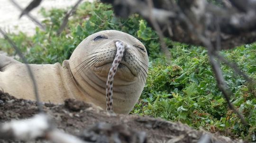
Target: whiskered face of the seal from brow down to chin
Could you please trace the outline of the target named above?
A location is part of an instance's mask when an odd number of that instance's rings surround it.
[[[116,56],[117,41],[125,44],[125,52],[115,78],[132,81],[141,76],[139,78],[145,82],[148,65],[146,48],[135,37],[119,31],[101,31],[87,37],[84,41],[89,43],[84,45],[86,56],[82,57],[82,64],[77,69],[84,71],[89,68],[99,76],[107,77]]]

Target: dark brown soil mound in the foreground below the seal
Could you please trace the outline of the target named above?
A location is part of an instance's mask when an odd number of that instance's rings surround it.
[[[113,140],[115,135],[121,143],[199,143],[198,141],[203,138],[207,142],[202,143],[241,142],[159,118],[110,115],[90,104],[71,99],[61,105],[45,103],[44,110],[57,128],[91,143],[118,143]],[[0,92],[0,122],[29,118],[37,113],[35,101],[16,99],[8,93]],[[20,142],[0,140],[0,143]],[[29,143],[46,141],[37,140]]]

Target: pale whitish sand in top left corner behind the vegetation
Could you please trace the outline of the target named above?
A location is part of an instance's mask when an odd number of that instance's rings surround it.
[[[32,0],[15,0],[22,8],[25,8]],[[67,8],[74,5],[77,0],[43,0],[39,7],[33,9],[30,14],[41,21],[44,18],[38,13],[41,8]],[[93,1],[93,0],[87,0]],[[0,0],[0,28],[6,32],[18,33],[22,30],[28,35],[35,33],[36,24],[26,16],[18,18],[20,11],[10,0]]]

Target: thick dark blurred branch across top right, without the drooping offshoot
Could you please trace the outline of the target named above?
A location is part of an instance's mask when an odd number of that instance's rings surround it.
[[[111,3],[115,14],[121,17],[139,13],[151,25],[153,23],[150,17],[155,17],[163,34],[173,41],[204,46],[199,37],[189,30],[190,25],[186,25],[183,21],[183,14],[192,18],[190,20],[195,28],[205,31],[214,47],[218,40],[216,36],[218,28],[214,25],[216,22],[220,26],[221,49],[232,49],[256,41],[256,2],[254,0],[230,0],[243,1],[240,6],[246,7],[246,12],[239,10],[241,8],[233,3],[227,8],[213,5],[206,0],[178,0],[178,3],[174,0],[153,0],[155,7],[152,9],[151,16],[147,12],[147,0],[101,1]]]

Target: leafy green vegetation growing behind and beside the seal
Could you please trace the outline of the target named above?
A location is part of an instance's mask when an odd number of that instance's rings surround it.
[[[115,29],[137,37],[149,54],[149,73],[145,89],[133,114],[150,115],[171,121],[181,121],[194,128],[210,132],[222,132],[236,138],[255,140],[256,135],[256,87],[222,65],[225,79],[234,93],[231,98],[243,113],[250,126],[243,126],[231,110],[216,86],[208,62],[207,51],[202,47],[172,42],[165,39],[172,53],[172,65],[166,66],[160,52],[157,34],[138,15],[128,19],[113,16],[110,5],[83,3],[69,21],[61,35],[56,35],[65,10],[53,9],[42,14],[46,31],[9,34],[25,53],[29,63],[55,63],[68,59],[74,48],[85,37],[95,32]],[[15,55],[9,43],[0,39],[0,50]],[[240,69],[256,79],[256,44],[223,51],[225,57],[238,63]]]

